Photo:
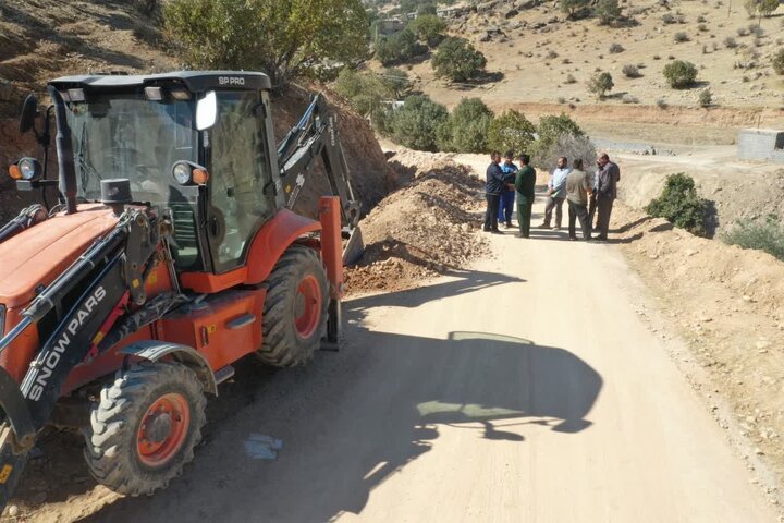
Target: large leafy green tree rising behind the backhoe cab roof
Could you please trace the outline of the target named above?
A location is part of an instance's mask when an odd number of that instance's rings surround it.
[[[367,49],[362,0],[171,0],[163,27],[188,66],[261,70],[275,88]]]

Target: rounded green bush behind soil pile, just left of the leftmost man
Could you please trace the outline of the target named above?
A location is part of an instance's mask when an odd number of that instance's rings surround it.
[[[440,150],[487,153],[493,112],[479,98],[463,98],[436,133]]]

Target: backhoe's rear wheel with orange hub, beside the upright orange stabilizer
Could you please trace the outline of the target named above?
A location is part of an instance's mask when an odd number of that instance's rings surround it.
[[[259,360],[293,367],[310,360],[327,328],[327,271],[315,250],[292,245],[267,278]]]

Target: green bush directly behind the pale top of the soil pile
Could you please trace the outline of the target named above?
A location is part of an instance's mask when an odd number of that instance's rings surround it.
[[[436,151],[436,129],[448,120],[449,112],[444,106],[425,95],[413,95],[392,113],[388,125],[392,138],[399,144],[412,149]]]

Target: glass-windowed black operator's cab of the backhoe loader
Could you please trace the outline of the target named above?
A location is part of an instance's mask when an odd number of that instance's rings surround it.
[[[243,265],[259,228],[284,206],[262,73],[68,76],[77,202],[126,179],[131,197],[171,212],[179,271]]]

